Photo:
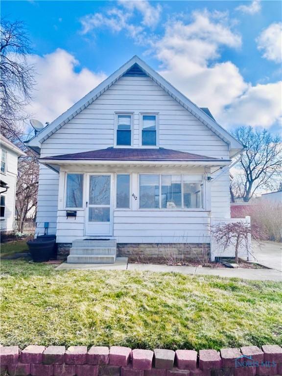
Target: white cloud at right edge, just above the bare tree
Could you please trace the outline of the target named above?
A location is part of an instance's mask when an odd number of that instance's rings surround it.
[[[249,86],[221,115],[229,125],[271,127],[282,119],[282,81]]]

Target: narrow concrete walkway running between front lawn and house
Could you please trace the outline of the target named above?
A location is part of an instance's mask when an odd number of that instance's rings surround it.
[[[194,266],[170,266],[161,264],[130,264],[126,257],[118,257],[114,264],[68,264],[59,265],[56,270],[136,270],[164,273],[182,273],[193,275],[210,275],[246,280],[282,281],[282,273],[274,269],[229,269],[229,268],[202,268]]]

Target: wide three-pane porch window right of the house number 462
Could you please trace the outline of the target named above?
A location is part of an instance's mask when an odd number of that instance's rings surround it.
[[[140,209],[202,209],[203,176],[141,174],[139,195]]]

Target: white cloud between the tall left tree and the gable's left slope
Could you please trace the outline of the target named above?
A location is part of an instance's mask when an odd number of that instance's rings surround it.
[[[86,68],[76,72],[79,62],[63,49],[29,59],[35,65],[37,86],[26,112],[43,123],[57,118],[106,78]]]

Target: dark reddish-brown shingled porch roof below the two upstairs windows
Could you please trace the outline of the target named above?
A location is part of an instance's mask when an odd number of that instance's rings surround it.
[[[54,155],[40,161],[181,161],[181,162],[229,162],[204,155],[160,148],[114,148],[85,151],[82,153]]]

